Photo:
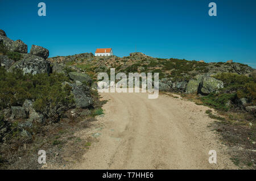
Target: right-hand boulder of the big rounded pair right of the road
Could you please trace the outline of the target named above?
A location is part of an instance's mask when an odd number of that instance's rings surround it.
[[[213,77],[204,77],[200,91],[203,94],[210,94],[210,92],[215,92],[223,87],[224,83],[222,81],[219,81]]]

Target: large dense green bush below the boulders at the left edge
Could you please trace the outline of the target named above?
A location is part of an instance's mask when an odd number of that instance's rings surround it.
[[[61,86],[68,81],[64,74],[26,74],[16,69],[7,73],[0,68],[0,109],[10,106],[22,106],[25,99],[34,99],[34,108],[38,112],[59,110],[63,106],[70,106],[74,100],[71,87]]]

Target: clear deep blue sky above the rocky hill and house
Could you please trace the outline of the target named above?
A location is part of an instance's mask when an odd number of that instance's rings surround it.
[[[47,16],[38,16],[45,2]],[[217,16],[208,4],[216,2]],[[233,59],[256,68],[255,0],[0,0],[0,29],[50,56],[113,48],[160,58]]]

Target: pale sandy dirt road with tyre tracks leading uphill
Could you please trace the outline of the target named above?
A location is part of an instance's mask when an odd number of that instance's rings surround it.
[[[208,127],[208,107],[168,95],[101,95],[109,100],[101,127],[84,133],[98,142],[73,169],[237,169]],[[217,151],[217,164],[209,164],[209,150]]]

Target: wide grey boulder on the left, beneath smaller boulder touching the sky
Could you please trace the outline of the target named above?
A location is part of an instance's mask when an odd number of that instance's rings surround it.
[[[22,54],[22,59],[16,61],[9,71],[13,69],[22,69],[24,74],[31,73],[32,75],[49,73],[49,62],[42,57],[33,54]]]

